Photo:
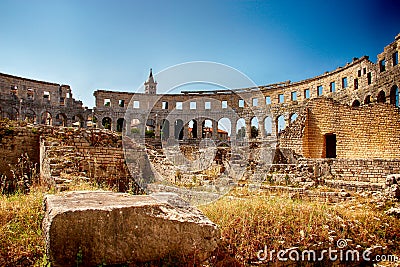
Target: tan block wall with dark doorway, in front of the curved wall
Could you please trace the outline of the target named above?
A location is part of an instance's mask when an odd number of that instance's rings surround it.
[[[336,134],[337,158],[400,158],[400,113],[389,104],[358,108],[315,99],[308,104],[303,155],[326,157],[326,134]]]

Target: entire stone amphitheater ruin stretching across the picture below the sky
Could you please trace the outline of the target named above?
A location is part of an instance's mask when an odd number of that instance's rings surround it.
[[[49,125],[46,127],[81,127],[75,132],[76,139],[83,141],[72,143],[86,159],[83,165],[90,161],[85,156],[90,153],[90,141],[82,136],[89,133],[88,128],[99,128],[96,135],[105,129],[143,139],[151,150],[147,159],[171,179],[187,176],[193,180],[194,172],[169,170],[159,149],[163,142],[178,144],[185,156],[191,157],[196,152],[192,148],[207,139],[218,147],[213,166],[219,167],[219,173],[234,164],[245,164],[237,180],[250,174],[269,181],[304,181],[309,177],[323,178],[325,184],[337,188],[379,190],[388,175],[400,173],[399,50],[397,35],[376,63],[368,56],[353,58],[345,66],[313,78],[256,88],[157,94],[158,84],[150,71],[144,93],[97,90],[93,110],[72,98],[68,85],[0,74],[0,114],[11,120]],[[65,134],[64,130],[55,131]],[[45,151],[49,142],[43,140]],[[243,142],[250,152],[238,162],[233,150]],[[122,145],[111,147],[119,149],[110,153],[117,153],[122,162]],[[260,163],[265,155],[259,150],[265,147],[274,151],[268,169]],[[2,142],[1,149],[15,148]],[[43,155],[36,156],[42,165],[46,163]],[[51,170],[48,173],[52,176]],[[143,175],[143,171],[135,174],[131,170],[131,175]]]

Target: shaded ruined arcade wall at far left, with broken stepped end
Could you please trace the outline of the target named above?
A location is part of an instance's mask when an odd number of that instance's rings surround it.
[[[91,110],[72,97],[69,85],[0,73],[0,118],[35,124],[86,125]]]

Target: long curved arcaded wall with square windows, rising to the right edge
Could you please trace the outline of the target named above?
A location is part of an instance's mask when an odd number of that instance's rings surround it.
[[[177,137],[173,127],[176,121],[182,120],[185,124],[182,139],[190,138],[187,134],[186,123],[194,118],[199,129],[205,119],[213,121],[213,128],[217,128],[221,118],[228,118],[231,122],[231,140],[236,137],[237,121],[245,120],[246,137],[251,138],[251,120],[258,119],[259,138],[268,138],[278,134],[278,119],[283,116],[285,125],[292,123],[294,114],[299,114],[310,99],[318,96],[326,96],[349,106],[367,105],[374,102],[390,102],[396,105],[396,88],[400,83],[399,64],[393,63],[393,55],[398,51],[400,35],[395,41],[384,48],[384,52],[378,55],[378,61],[373,63],[369,57],[354,58],[352,62],[343,67],[326,72],[322,75],[299,82],[281,82],[272,85],[258,86],[258,88],[242,88],[238,90],[216,90],[183,92],[182,94],[149,95],[144,93],[123,93],[98,90],[96,97],[95,115],[99,119],[99,127],[103,127],[101,120],[105,117],[112,121],[111,129],[117,129],[116,121],[123,121],[128,105],[124,108],[118,106],[119,100],[125,103],[129,100],[137,101],[139,107],[131,109],[131,114],[124,122],[127,133],[130,133],[131,120],[139,120],[139,130],[144,135],[148,121],[154,121],[151,126],[155,129],[156,137],[160,137],[162,122],[168,120],[167,137]],[[385,59],[385,70],[381,71],[380,61]],[[162,86],[160,84],[160,86]],[[165,88],[164,88],[165,89]],[[258,89],[258,90],[255,90]],[[308,92],[308,94],[306,94]],[[383,94],[383,97],[382,97]],[[398,94],[398,93],[397,93]],[[283,101],[279,96],[283,96]],[[266,103],[270,99],[270,104]],[[110,99],[111,104],[104,106],[104,99]],[[257,99],[257,105],[253,100]],[[239,100],[244,100],[244,106],[239,106]],[[227,102],[227,109],[221,108],[221,102]],[[163,108],[162,103],[168,103],[168,108]],[[182,110],[176,110],[176,103],[182,102]],[[196,109],[190,109],[190,102],[196,102]],[[210,102],[211,108],[205,109],[204,103]],[[228,110],[232,112],[227,112]],[[195,113],[195,115],[193,115]],[[272,124],[266,129],[266,120]],[[201,131],[200,131],[201,133]],[[201,138],[198,134],[197,138]],[[214,137],[213,137],[214,138]]]

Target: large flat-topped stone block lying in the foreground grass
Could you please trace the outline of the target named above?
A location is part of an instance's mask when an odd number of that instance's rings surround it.
[[[206,259],[217,247],[217,226],[171,193],[113,192],[47,195],[43,229],[52,266],[97,266]]]

